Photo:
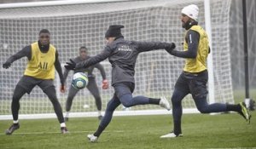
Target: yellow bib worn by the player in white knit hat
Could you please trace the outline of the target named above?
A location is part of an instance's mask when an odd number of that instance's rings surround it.
[[[209,52],[209,43],[207,32],[201,26],[192,26],[189,30],[193,30],[200,34],[200,40],[198,43],[197,55],[195,59],[186,59],[184,72],[202,72],[207,70],[207,56]],[[187,34],[187,32],[186,32]],[[183,42],[183,49],[188,50],[188,43],[186,40]]]

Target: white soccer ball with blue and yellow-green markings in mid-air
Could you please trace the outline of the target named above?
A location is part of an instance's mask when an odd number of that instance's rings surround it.
[[[88,77],[83,72],[73,74],[72,86],[75,89],[84,89],[88,83]]]

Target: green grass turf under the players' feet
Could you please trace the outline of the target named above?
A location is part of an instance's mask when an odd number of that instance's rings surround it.
[[[256,112],[253,112],[253,116]],[[85,137],[98,125],[96,117],[71,118],[70,134],[61,135],[55,118],[20,120],[20,129],[4,135],[11,121],[0,121],[1,149],[164,149],[256,147],[256,118],[247,124],[236,113],[185,114],[184,137],[160,139],[172,128],[171,115],[113,117],[97,143]]]

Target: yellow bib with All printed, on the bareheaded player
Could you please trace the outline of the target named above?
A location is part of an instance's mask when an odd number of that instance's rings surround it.
[[[55,78],[55,47],[49,44],[49,51],[42,53],[38,42],[32,43],[32,59],[28,61],[24,75],[40,79]]]

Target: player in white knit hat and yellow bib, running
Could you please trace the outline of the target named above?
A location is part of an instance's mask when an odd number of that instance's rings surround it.
[[[210,112],[238,112],[247,121],[250,120],[245,103],[241,102],[237,105],[229,105],[222,103],[207,103],[207,56],[210,53],[208,45],[207,32],[201,26],[198,26],[199,9],[195,4],[191,4],[182,9],[181,21],[182,26],[186,29],[183,51],[166,49],[169,54],[185,59],[183,72],[177,78],[177,82],[172,94],[172,117],[174,127],[167,135],[160,138],[173,138],[182,135],[181,117],[183,114],[182,100],[191,94],[195,106],[201,113]]]

